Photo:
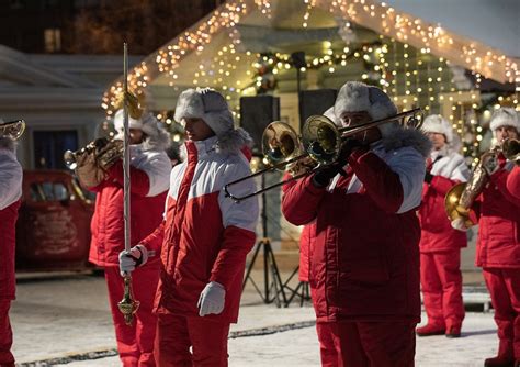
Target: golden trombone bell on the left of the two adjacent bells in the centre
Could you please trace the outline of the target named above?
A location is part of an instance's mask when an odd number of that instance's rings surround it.
[[[272,166],[290,160],[302,154],[298,135],[282,121],[271,122],[262,134],[262,151]],[[285,167],[280,167],[283,170]]]

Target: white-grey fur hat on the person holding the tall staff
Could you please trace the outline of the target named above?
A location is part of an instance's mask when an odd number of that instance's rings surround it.
[[[184,118],[202,119],[219,136],[234,129],[233,114],[224,97],[216,90],[188,89],[177,101],[177,122]]]

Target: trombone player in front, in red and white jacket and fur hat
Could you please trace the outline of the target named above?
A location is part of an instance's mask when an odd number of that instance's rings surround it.
[[[342,125],[393,116],[376,87],[349,81],[334,107]],[[316,221],[309,286],[318,337],[330,333],[339,366],[414,366],[420,320],[419,238],[425,160],[431,144],[388,122],[343,143],[337,164],[282,198],[295,225]]]

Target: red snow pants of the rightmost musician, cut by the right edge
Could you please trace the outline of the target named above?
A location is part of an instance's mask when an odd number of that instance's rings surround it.
[[[520,359],[520,269],[483,270],[498,326],[498,355]]]

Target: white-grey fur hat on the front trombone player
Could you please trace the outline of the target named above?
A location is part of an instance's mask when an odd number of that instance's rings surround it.
[[[334,113],[337,119],[344,112],[369,112],[373,120],[397,114],[397,108],[389,97],[377,87],[360,81],[347,81],[339,90]]]

